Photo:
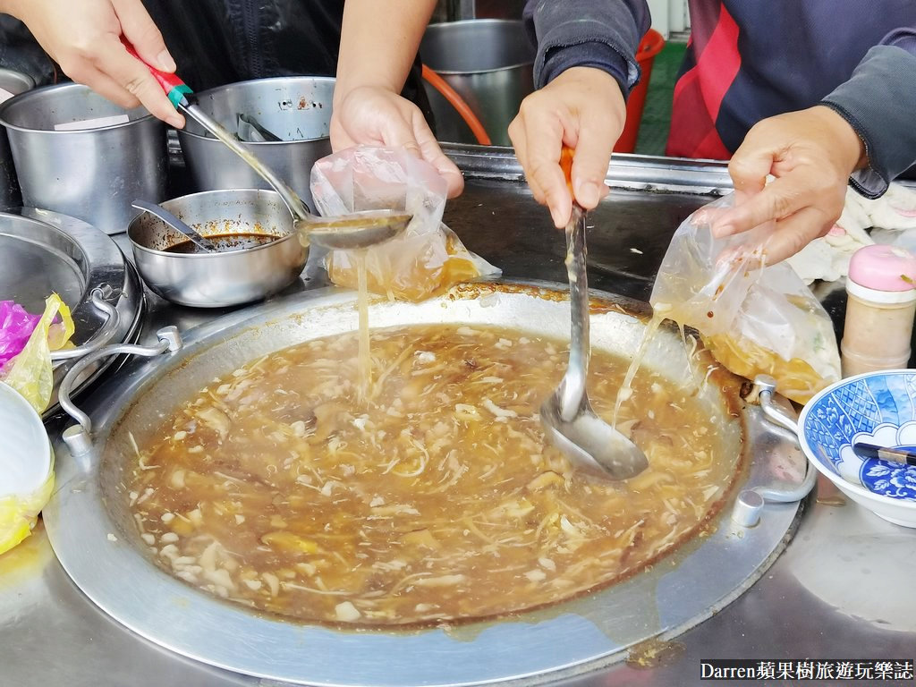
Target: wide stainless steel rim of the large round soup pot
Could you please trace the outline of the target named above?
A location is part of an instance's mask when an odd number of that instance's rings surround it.
[[[564,296],[555,286],[464,285],[420,304],[376,301],[370,322],[496,324],[560,338],[569,326]],[[599,294],[593,302],[593,346],[631,354],[645,328],[628,314],[638,304]],[[125,476],[136,460],[135,437],[144,442],[214,376],[356,326],[352,292],[322,289],[270,301],[192,330],[175,352],[128,364],[130,374],[111,377],[87,399],[95,429],[91,437],[77,434],[93,443],[77,441],[73,428],[65,432],[68,443],[57,442],[59,488],[44,518],[61,564],[95,604],[162,647],[267,679],[392,687],[554,682],[702,622],[766,571],[797,523],[798,502],[758,499],[753,527],[736,524],[726,503],[707,536],[623,583],[498,621],[408,631],[344,631],[256,615],[164,573],[149,559],[129,510]],[[650,349],[647,365],[665,376],[687,374],[678,333],[663,329]],[[165,344],[158,349],[164,350]],[[785,433],[770,429],[758,406],[736,395],[729,400],[714,385],[703,393],[720,400],[714,412],[724,445],[744,456],[744,489],[771,485],[776,474],[804,473],[802,454]]]

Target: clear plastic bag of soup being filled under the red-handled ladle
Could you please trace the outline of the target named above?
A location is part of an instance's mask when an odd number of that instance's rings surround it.
[[[355,147],[320,159],[311,170],[311,194],[322,215],[378,209],[413,214],[404,234],[365,253],[367,286],[374,293],[423,300],[454,284],[499,274],[442,224],[445,180],[407,150]],[[357,257],[355,251],[328,254],[325,267],[335,284],[357,287]]]

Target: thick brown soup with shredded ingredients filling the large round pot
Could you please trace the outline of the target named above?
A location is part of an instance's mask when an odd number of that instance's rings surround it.
[[[307,621],[496,616],[671,550],[732,479],[737,456],[714,454],[714,413],[692,384],[636,376],[619,426],[649,469],[595,482],[545,445],[537,416],[565,344],[483,327],[376,330],[361,402],[356,339],[215,380],[140,448],[131,507],[163,568]],[[589,391],[605,417],[626,367],[594,352]]]

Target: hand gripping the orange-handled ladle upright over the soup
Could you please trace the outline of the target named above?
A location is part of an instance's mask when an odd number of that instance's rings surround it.
[[[627,104],[616,79],[591,67],[563,71],[522,101],[509,137],[534,199],[547,205],[557,228],[566,226],[573,212],[560,169],[563,145],[575,149],[575,199],[591,210],[607,193],[607,164],[626,119]]]

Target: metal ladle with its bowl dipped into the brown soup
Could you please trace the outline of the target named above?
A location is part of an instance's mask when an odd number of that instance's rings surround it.
[[[560,386],[541,405],[540,422],[551,442],[578,467],[605,479],[628,479],[649,467],[649,461],[635,443],[595,415],[585,390],[591,348],[585,254],[585,211],[573,202],[566,226],[572,314],[569,364]]]

